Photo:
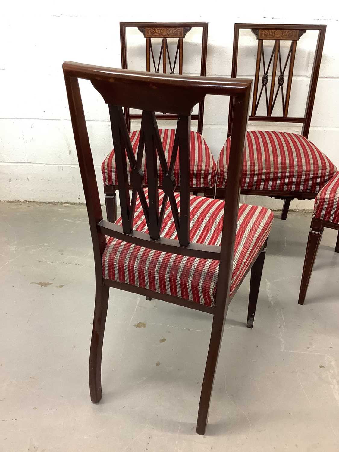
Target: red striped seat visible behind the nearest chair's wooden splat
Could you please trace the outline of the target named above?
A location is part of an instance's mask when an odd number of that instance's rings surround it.
[[[172,155],[175,129],[159,129],[162,146],[164,148],[167,163],[170,163]],[[129,134],[134,154],[137,153],[140,130]],[[130,165],[128,164],[128,181],[130,177]],[[141,169],[145,176],[145,185],[147,185],[146,158],[145,152],[142,157]],[[101,165],[104,185],[118,185],[117,169],[115,166],[114,149],[108,154]],[[174,177],[179,185],[179,153],[174,165]],[[216,183],[217,165],[213,159],[206,141],[200,133],[191,131],[191,187],[212,188]],[[158,158],[158,180],[162,180],[162,170]]]

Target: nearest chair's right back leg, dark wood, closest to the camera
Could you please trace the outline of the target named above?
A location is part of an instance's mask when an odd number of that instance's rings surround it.
[[[217,315],[213,315],[211,339],[208,348],[198,410],[197,433],[199,435],[205,434],[207,426],[208,411],[211,401],[213,382],[219,357],[222,335],[224,333],[226,314],[227,310],[225,312],[224,319],[220,319]]]

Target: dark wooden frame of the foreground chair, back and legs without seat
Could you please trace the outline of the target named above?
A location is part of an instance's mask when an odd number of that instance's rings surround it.
[[[148,298],[157,298],[180,306],[207,312],[213,314],[213,322],[207,363],[202,383],[197,424],[197,432],[204,434],[217,358],[226,320],[227,306],[234,297],[234,294],[230,297],[230,285],[251,80],[160,75],[81,65],[71,62],[65,62],[63,64],[63,71],[94,249],[96,299],[89,374],[91,399],[94,402],[98,402],[102,395],[100,367],[104,323],[107,312],[108,287],[116,287]],[[108,104],[113,143],[118,165],[118,190],[121,198],[122,226],[109,223],[102,218],[78,78],[90,80],[92,85],[99,91],[105,102]],[[136,93],[138,93],[137,100],[135,99]],[[172,100],[174,94],[176,99],[175,102]],[[235,121],[229,160],[230,176],[226,188],[223,233],[220,247],[189,242],[190,116],[193,106],[198,102],[201,102],[206,94],[230,95],[234,97]],[[136,105],[138,105],[143,113],[140,146],[137,155],[134,156],[128,136],[127,125],[123,119],[122,106],[131,108]],[[161,112],[165,110],[178,115],[179,118],[172,158],[168,166],[163,153],[154,114],[154,111]],[[178,211],[176,203],[175,207],[173,204],[174,189],[176,185],[173,171],[178,147],[180,211]],[[144,202],[146,198],[142,198],[142,193],[144,194],[142,189],[143,174],[140,172],[142,152],[146,152],[148,174],[152,176],[152,179],[155,179],[148,187],[151,203],[149,205],[146,205],[147,203]],[[157,176],[155,176],[154,166],[157,157],[159,157],[160,165],[163,169],[163,181],[156,180]],[[130,178],[132,184],[131,199],[128,191],[127,160],[132,168]],[[163,209],[163,204],[161,206],[157,204],[156,198],[158,196],[159,184],[163,185],[165,195],[169,198],[170,202],[172,199],[172,213],[174,222],[176,223],[179,240],[170,240],[159,237],[162,218],[161,211]],[[110,196],[114,194],[113,187],[106,187],[105,189]],[[151,194],[150,191],[152,192]],[[133,231],[133,212],[137,194],[139,194],[141,199],[145,219],[149,226],[149,235]],[[212,196],[212,194],[210,195]],[[102,255],[106,246],[106,235],[116,237],[127,243],[146,246],[153,250],[161,250],[183,256],[199,256],[205,259],[220,260],[215,306],[208,307],[130,284],[103,279]],[[261,250],[251,262],[250,267],[256,262],[256,259],[259,259],[260,253]],[[260,261],[255,265],[255,268],[257,268],[257,266],[260,265]],[[259,284],[259,280],[257,280],[257,284]],[[253,294],[251,297],[254,299]]]

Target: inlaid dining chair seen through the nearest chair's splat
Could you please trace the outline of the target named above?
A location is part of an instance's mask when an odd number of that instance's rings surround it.
[[[141,37],[141,44],[145,43],[146,47],[146,71],[163,72],[164,74],[183,74],[184,66],[184,40],[187,35],[193,33],[193,30],[202,30],[202,44],[200,54],[200,75],[206,75],[207,60],[207,22],[120,22],[120,42],[121,42],[121,63],[122,69],[127,69],[127,30],[138,30]],[[160,44],[161,40],[161,44]],[[159,49],[160,44],[160,49]],[[172,46],[174,44],[174,47]],[[186,44],[188,46],[188,44]],[[131,46],[132,47],[132,46]],[[137,47],[137,46],[136,46]],[[194,46],[196,47],[196,46]],[[185,47],[185,60],[192,62],[194,60],[195,48]],[[194,50],[194,52],[193,52]],[[133,68],[134,69],[134,68]],[[143,68],[139,68],[143,69]],[[139,140],[140,130],[131,132],[131,120],[140,120],[141,113],[131,113],[130,108],[124,106],[127,130],[130,134],[132,150],[136,154]],[[191,120],[198,121],[198,132],[191,131],[191,191],[195,194],[204,193],[210,198],[214,197],[215,183],[217,178],[217,164],[213,159],[212,153],[207,146],[206,141],[202,137],[204,114],[204,101],[198,104],[198,114],[192,114]],[[157,120],[173,121],[177,120],[177,115],[164,112],[155,115]],[[165,151],[166,157],[170,158],[170,152],[173,148],[175,129],[162,128],[159,129],[160,139]],[[145,159],[142,161],[142,170],[145,176],[144,185],[148,185],[149,176]],[[109,221],[116,220],[116,190],[118,189],[117,169],[114,149],[111,151],[102,163],[102,174],[104,180],[104,192],[106,211]],[[161,165],[158,161],[158,177],[161,178]],[[174,174],[178,175],[179,161],[174,164]],[[128,174],[129,177],[129,174]],[[128,180],[130,186],[131,181]]]

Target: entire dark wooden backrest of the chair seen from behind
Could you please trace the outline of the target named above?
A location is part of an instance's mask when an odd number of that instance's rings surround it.
[[[252,80],[149,74],[147,72],[109,69],[67,61],[63,64],[63,71],[89,216],[96,277],[102,279],[102,254],[106,245],[106,235],[152,250],[220,260],[219,278],[221,278],[222,284],[218,285],[216,302],[219,300],[219,303],[225,308],[225,303],[229,300],[231,284],[240,198],[240,175]],[[94,88],[102,95],[105,103],[108,104],[118,168],[122,226],[103,220],[78,84],[79,78],[90,80]],[[226,187],[220,247],[190,243],[190,116],[194,105],[203,100],[206,94],[229,95],[235,99],[234,116],[236,122],[233,131],[234,139],[231,143],[230,177]],[[134,155],[132,151],[122,105],[142,110],[141,138],[137,155]],[[167,111],[178,117],[174,149],[169,163],[166,162],[162,148],[155,111]],[[141,161],[144,152],[147,174],[152,174],[151,183],[148,184],[147,189],[148,200],[142,187]],[[178,152],[179,208],[174,197],[177,184],[174,178],[174,162]],[[157,180],[157,158],[159,158],[162,167],[163,179],[161,181]],[[130,174],[132,196],[130,196],[128,189],[127,160],[132,168]],[[159,185],[164,191],[162,202],[159,200]],[[139,196],[141,202],[148,234],[133,230],[137,196]],[[160,237],[165,206],[168,200],[170,201],[178,240]]]

